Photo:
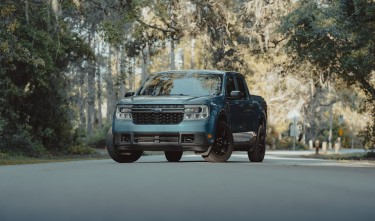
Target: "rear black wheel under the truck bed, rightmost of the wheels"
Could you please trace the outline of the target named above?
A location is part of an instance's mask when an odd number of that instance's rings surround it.
[[[252,151],[248,151],[247,155],[251,162],[262,162],[266,153],[266,127],[259,125],[257,140]]]

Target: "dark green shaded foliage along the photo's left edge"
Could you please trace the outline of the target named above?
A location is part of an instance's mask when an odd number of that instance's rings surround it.
[[[0,4],[1,149],[40,155],[73,144],[64,71],[91,54],[52,15],[46,3],[29,2],[26,12],[16,1]]]

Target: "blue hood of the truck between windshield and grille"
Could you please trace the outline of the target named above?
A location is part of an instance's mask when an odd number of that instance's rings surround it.
[[[208,104],[215,96],[133,96],[119,104]]]

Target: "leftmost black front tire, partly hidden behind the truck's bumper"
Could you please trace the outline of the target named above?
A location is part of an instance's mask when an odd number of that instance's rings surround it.
[[[143,151],[119,151],[113,142],[112,128],[108,130],[106,143],[109,156],[118,163],[133,163],[143,154]]]

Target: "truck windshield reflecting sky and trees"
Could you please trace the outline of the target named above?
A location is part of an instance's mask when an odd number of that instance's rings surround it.
[[[159,73],[150,76],[139,95],[210,96],[221,94],[221,74]]]

